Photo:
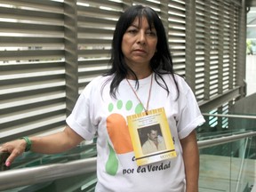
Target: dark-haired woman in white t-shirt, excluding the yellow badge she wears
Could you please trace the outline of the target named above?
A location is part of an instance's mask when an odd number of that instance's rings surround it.
[[[59,153],[92,140],[97,132],[96,191],[198,191],[195,129],[204,117],[188,84],[173,73],[164,26],[155,11],[135,5],[122,14],[110,63],[107,74],[85,87],[63,132],[5,143],[1,151],[11,153],[6,165],[24,150]],[[138,166],[126,117],[156,108],[164,108],[177,156]]]

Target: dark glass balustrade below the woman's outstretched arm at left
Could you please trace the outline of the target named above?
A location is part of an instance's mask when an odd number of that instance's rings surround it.
[[[32,152],[24,153],[15,159],[11,170],[22,169],[24,167],[36,167],[44,164],[61,164],[78,159],[90,158],[96,156],[96,138],[92,141],[84,141],[76,148],[68,150],[68,152],[57,155],[43,155]],[[4,171],[8,172],[8,171]],[[0,172],[1,173],[1,172]],[[24,186],[20,188],[10,188],[5,192],[70,192],[70,191],[94,191],[96,185],[96,172],[86,173],[62,178],[59,180],[51,180],[48,182],[38,183],[35,185]]]

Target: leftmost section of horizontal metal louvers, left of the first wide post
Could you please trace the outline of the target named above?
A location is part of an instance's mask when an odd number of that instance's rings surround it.
[[[0,1],[1,142],[65,121],[63,4]]]

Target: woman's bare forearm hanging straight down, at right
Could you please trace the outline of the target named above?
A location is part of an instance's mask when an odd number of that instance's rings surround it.
[[[183,149],[183,159],[186,173],[186,192],[198,192],[199,151],[196,132],[191,132],[187,138],[180,140]]]

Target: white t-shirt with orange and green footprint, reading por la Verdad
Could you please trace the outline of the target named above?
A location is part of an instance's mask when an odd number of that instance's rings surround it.
[[[126,116],[142,112],[140,101],[124,79],[116,92],[116,99],[109,95],[109,76],[99,76],[81,93],[67,124],[84,140],[97,139],[97,192],[181,192],[185,188],[185,171],[180,139],[188,136],[204,117],[197,106],[188,84],[176,76],[177,90],[171,75],[164,75],[169,95],[153,78],[148,110],[163,108],[174,139],[177,157],[162,162],[137,166],[130,139]],[[159,79],[160,82],[162,82]],[[129,80],[133,87],[135,81]],[[140,80],[137,95],[147,105],[151,76]],[[163,83],[163,82],[162,82]],[[104,88],[102,85],[105,84]]]

